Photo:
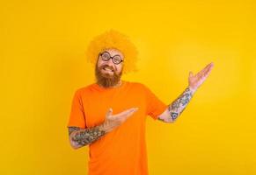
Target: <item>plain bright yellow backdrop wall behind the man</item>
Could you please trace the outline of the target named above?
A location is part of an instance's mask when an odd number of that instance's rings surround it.
[[[94,81],[84,51],[111,28],[140,52],[139,81],[163,102],[188,72],[208,80],[174,124],[147,120],[151,175],[256,174],[256,4],[253,1],[1,1],[0,174],[86,174],[72,150],[69,110]]]

